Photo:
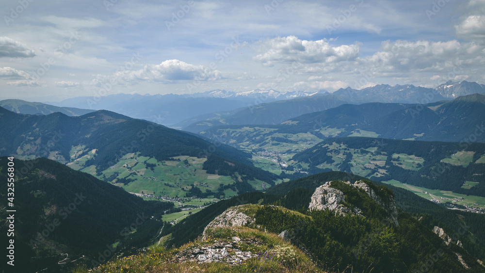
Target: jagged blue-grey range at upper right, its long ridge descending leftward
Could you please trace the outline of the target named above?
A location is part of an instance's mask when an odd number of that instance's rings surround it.
[[[447,87],[444,88],[444,86]],[[450,92],[455,96],[449,96]],[[341,88],[333,93],[322,93],[285,101],[263,102],[258,105],[249,104],[247,108],[237,110],[237,112],[213,113],[212,115],[193,117],[174,125],[174,127],[191,132],[200,132],[218,125],[275,125],[305,113],[323,111],[345,103],[380,102],[425,105],[450,100],[458,96],[484,93],[485,85],[467,81],[449,81],[437,88],[417,87],[409,84],[395,86],[380,84],[362,90],[348,87],[346,89]]]

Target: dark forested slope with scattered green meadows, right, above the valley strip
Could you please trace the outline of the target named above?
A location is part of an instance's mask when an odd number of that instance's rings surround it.
[[[405,141],[362,137],[330,138],[296,154],[293,164],[307,171],[338,170],[379,181],[398,180],[428,189],[485,196],[485,144],[466,150],[459,143]],[[466,181],[477,182],[471,189]]]

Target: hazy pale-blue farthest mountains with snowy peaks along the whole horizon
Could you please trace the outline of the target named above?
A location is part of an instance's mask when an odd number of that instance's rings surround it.
[[[304,113],[327,109],[312,102],[313,99],[322,100],[319,98],[321,96],[330,96],[323,100],[333,102],[337,106],[339,101],[352,104],[367,102],[427,104],[458,96],[483,93],[485,93],[485,85],[483,84],[468,81],[448,81],[436,88],[417,87],[409,84],[395,86],[379,84],[362,90],[350,87],[341,88],[333,93],[326,90],[315,92],[279,92],[273,89],[255,89],[242,92],[212,90],[184,95],[116,94],[100,97],[84,96],[61,102],[46,102],[51,105],[40,105],[39,103],[33,105],[29,102],[5,100],[0,106],[25,114],[63,112],[67,115],[81,115],[92,110],[109,110],[173,128],[201,131],[196,127],[197,124],[203,122],[208,122],[207,126],[209,127],[212,123],[216,125],[278,124]],[[283,100],[287,100],[287,102],[281,103]],[[71,108],[86,110],[75,111]],[[274,114],[275,111],[279,113]]]

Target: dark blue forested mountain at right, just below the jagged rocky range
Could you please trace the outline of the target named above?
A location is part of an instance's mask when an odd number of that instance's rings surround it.
[[[426,141],[485,142],[485,96],[473,94],[426,105],[344,104],[279,125],[221,125],[200,134],[250,151],[301,151],[329,137],[369,136]],[[278,141],[276,141],[276,139]]]

